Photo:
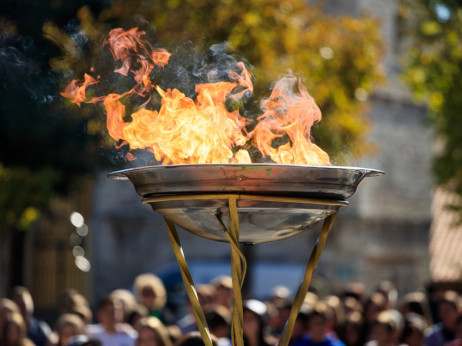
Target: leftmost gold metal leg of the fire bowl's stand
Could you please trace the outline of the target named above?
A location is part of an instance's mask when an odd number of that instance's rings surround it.
[[[194,286],[194,281],[189,271],[188,264],[184,257],[183,248],[181,247],[180,238],[176,231],[175,224],[169,219],[164,218],[165,223],[167,224],[168,237],[170,239],[170,244],[172,244],[173,252],[175,254],[178,265],[180,266],[181,277],[183,278],[183,284],[186,288],[186,293],[188,294],[189,301],[193,307],[194,316],[196,317],[197,327],[201,333],[202,340],[204,340],[205,346],[212,346],[212,337],[210,336],[210,331],[207,326],[207,321],[205,320],[204,312],[202,307],[199,304],[199,298],[197,297],[196,287]]]

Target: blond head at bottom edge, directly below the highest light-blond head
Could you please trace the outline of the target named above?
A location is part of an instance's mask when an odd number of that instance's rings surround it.
[[[138,346],[171,346],[167,328],[156,317],[146,317],[138,324]]]

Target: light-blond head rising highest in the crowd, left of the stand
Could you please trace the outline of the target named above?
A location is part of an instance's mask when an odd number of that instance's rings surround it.
[[[138,275],[134,284],[135,295],[138,301],[149,311],[160,310],[167,302],[167,291],[154,274],[146,273]]]

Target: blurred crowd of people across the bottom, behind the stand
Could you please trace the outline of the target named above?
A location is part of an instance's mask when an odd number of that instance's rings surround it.
[[[9,298],[0,299],[0,345],[204,345],[191,304],[185,303],[189,312],[176,319],[166,308],[167,292],[157,276],[139,275],[133,287],[133,293],[125,289],[110,292],[93,311],[79,292],[63,292],[60,315],[52,328],[34,316],[29,290],[15,287]],[[232,279],[220,276],[196,290],[213,344],[230,346]],[[266,301],[244,300],[245,346],[278,343],[292,299],[283,286],[272,292]],[[322,299],[308,292],[289,346],[459,346],[460,298],[454,291],[431,296],[417,291],[398,299],[397,290],[388,281],[369,294],[358,283]]]

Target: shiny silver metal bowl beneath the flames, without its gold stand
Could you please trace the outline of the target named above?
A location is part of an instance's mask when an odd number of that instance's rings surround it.
[[[129,179],[154,211],[218,241],[228,241],[217,216],[228,225],[229,194],[246,196],[237,201],[240,241],[261,243],[307,230],[347,205],[365,177],[381,174],[356,167],[194,164],[140,167],[109,177]]]

